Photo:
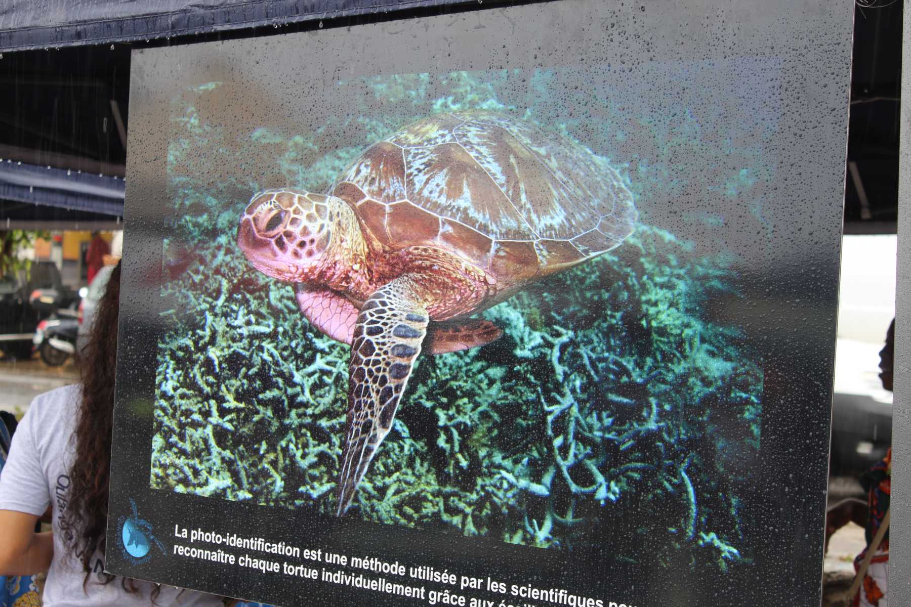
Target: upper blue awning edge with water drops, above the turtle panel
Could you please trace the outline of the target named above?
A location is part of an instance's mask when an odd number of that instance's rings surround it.
[[[466,0],[4,0],[0,52],[388,13]],[[477,3],[474,3],[477,4]]]

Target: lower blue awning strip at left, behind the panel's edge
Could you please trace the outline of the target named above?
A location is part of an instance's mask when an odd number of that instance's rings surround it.
[[[0,162],[0,200],[122,217],[125,189],[120,177]]]

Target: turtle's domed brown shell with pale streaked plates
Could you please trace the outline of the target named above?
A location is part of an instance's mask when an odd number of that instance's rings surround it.
[[[333,186],[389,248],[444,248],[515,282],[614,248],[637,219],[601,157],[492,112],[438,114],[367,148]]]

